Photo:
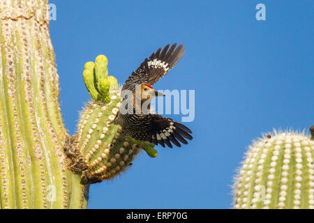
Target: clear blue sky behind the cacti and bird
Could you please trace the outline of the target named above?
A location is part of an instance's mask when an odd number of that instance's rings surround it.
[[[193,141],[156,147],[110,182],[91,185],[89,208],[231,208],[232,178],[252,139],[314,125],[313,1],[57,1],[50,22],[61,111],[75,133],[89,100],[84,63],[109,60],[121,84],[167,43],[186,52],[155,89],[195,90]],[[266,21],[255,19],[264,3]],[[181,121],[180,115],[171,118]]]

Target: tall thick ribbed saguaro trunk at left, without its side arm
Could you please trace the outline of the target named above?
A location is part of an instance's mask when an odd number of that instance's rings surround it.
[[[45,0],[0,1],[0,208],[85,208],[68,137]]]

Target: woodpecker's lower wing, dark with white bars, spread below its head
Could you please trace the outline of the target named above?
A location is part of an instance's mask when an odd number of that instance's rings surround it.
[[[137,122],[129,129],[128,134],[137,140],[149,141],[155,145],[160,144],[172,148],[172,144],[181,146],[188,144],[186,139],[192,140],[192,131],[185,125],[173,121],[171,118],[164,118],[158,114],[133,115],[137,116]],[[139,131],[140,130],[140,131]],[[171,144],[172,143],[172,144]]]

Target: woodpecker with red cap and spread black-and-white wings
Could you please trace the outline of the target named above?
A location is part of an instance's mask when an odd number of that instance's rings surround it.
[[[160,77],[163,77],[171,70],[184,54],[183,45],[177,47],[177,43],[166,45],[163,50],[160,47],[156,52],[145,59],[137,70],[133,71],[121,89],[122,103],[119,112],[113,123],[121,125],[128,137],[141,141],[149,141],[155,145],[160,144],[172,148],[172,144],[181,146],[188,144],[186,139],[193,139],[191,130],[185,125],[165,118],[158,114],[144,112],[142,107],[158,96],[165,96],[158,93],[151,86]],[[125,92],[128,92],[125,93]],[[130,100],[132,99],[132,100]],[[125,112],[121,112],[124,109]]]

